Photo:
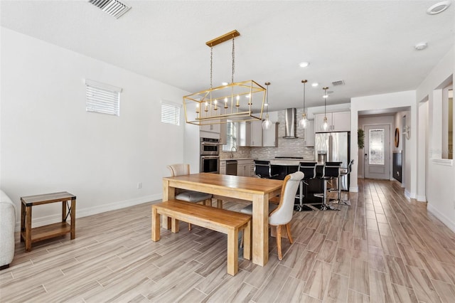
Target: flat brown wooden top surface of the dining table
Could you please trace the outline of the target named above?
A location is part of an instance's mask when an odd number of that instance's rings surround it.
[[[232,188],[235,191],[259,194],[272,193],[283,185],[282,180],[210,173],[170,176],[163,179],[166,181],[178,181],[180,184],[206,184],[215,188]]]

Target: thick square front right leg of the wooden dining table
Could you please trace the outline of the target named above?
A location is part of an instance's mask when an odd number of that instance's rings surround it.
[[[269,261],[269,194],[253,196],[252,260],[264,266]]]

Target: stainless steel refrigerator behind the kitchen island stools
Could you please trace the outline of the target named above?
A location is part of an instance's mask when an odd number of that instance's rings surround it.
[[[314,154],[319,164],[323,161],[339,161],[342,162],[342,168],[347,168],[350,161],[350,132],[316,133],[314,138]],[[348,175],[341,178],[341,190],[349,190]]]

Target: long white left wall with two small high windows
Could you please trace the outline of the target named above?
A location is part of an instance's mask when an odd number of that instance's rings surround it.
[[[160,102],[188,92],[6,28],[1,39],[0,186],[18,210],[21,196],[56,191],[77,196],[77,217],[160,199],[184,147]],[[85,78],[123,88],[119,117],[85,111]],[[60,209],[33,208],[33,224]]]

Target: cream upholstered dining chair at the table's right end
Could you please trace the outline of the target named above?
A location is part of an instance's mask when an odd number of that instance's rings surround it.
[[[292,240],[291,237],[290,222],[292,220],[292,215],[294,214],[294,198],[296,196],[297,188],[299,188],[301,179],[304,179],[304,173],[301,171],[296,171],[293,174],[287,175],[283,181],[279,204],[276,205],[269,203],[269,225],[277,227],[277,250],[279,260],[283,259],[282,226],[286,226],[289,243],[294,243],[294,240]],[[252,215],[252,204],[242,208],[240,212]]]

